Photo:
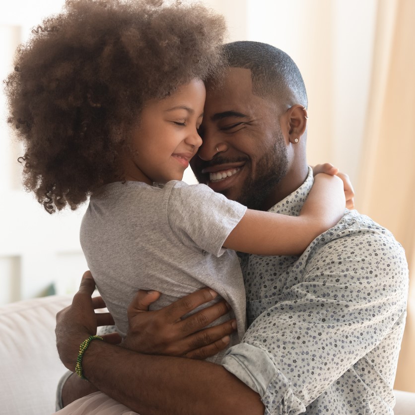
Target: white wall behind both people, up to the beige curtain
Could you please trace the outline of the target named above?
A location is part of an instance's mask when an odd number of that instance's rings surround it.
[[[63,1],[0,4],[0,77],[17,44]],[[376,0],[206,0],[226,16],[229,41],[256,40],[287,52],[309,94],[310,163],[331,161],[357,181],[372,62]],[[0,304],[44,293],[54,283],[73,292],[86,264],[78,242],[84,208],[50,216],[20,185],[0,97]],[[318,144],[317,144],[318,143]],[[185,180],[192,181],[186,172]]]

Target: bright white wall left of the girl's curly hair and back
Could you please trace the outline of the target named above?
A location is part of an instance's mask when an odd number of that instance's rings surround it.
[[[0,3],[0,78],[12,69],[12,56],[43,16],[60,10],[63,0]],[[86,262],[79,246],[82,209],[49,215],[21,184],[17,157],[23,150],[5,122],[0,95],[0,304],[56,292],[73,292]]]

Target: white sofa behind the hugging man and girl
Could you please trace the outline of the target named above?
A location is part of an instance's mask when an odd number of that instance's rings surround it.
[[[0,415],[55,411],[56,385],[66,371],[55,346],[55,316],[69,303],[50,296],[0,307]],[[415,414],[415,393],[396,397],[395,415]]]

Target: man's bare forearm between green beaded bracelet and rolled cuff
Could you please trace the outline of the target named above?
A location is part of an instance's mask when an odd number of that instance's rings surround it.
[[[141,415],[264,414],[257,393],[220,365],[93,342],[85,376]]]

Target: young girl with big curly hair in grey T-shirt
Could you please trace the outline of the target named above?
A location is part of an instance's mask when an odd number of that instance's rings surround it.
[[[160,308],[209,286],[231,305],[237,344],[245,291],[232,250],[298,255],[344,211],[343,185],[323,174],[299,217],[181,182],[223,36],[222,17],[199,5],[67,1],[18,49],[7,79],[26,187],[50,213],[90,196],[82,249],[121,336],[138,289],[160,291]]]

